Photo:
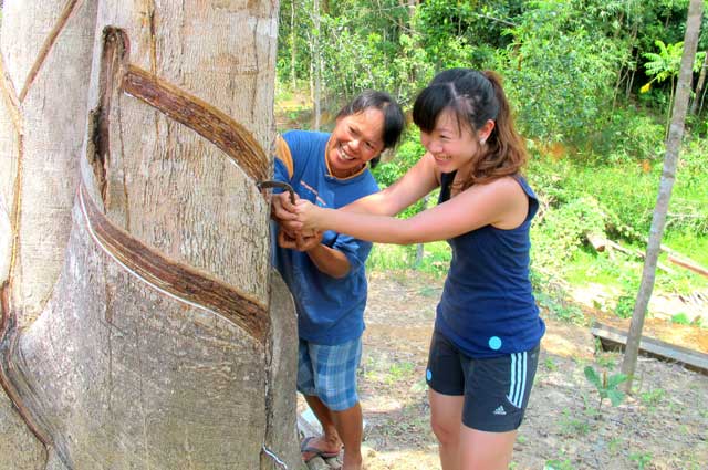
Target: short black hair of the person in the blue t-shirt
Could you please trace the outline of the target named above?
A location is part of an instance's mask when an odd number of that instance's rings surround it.
[[[395,148],[400,140],[400,135],[406,125],[406,117],[403,114],[400,105],[388,93],[367,90],[346,104],[336,118],[346,117],[354,114],[363,113],[368,108],[378,109],[384,114],[383,140],[384,149]],[[369,165],[374,168],[381,155],[369,160]]]

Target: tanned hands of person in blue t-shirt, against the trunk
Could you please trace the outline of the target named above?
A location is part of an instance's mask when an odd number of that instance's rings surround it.
[[[295,194],[295,203],[303,201]],[[309,251],[322,242],[322,231],[302,230],[288,192],[273,195],[271,199],[271,217],[278,222],[278,246],[298,251]]]

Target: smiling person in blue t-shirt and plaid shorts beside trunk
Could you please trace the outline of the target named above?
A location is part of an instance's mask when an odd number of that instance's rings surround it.
[[[367,91],[344,106],[332,133],[290,130],[277,140],[274,177],[296,197],[336,209],[378,191],[369,166],[398,142],[405,116],[384,92]],[[272,199],[279,221],[288,194]],[[288,233],[278,224],[273,262],[298,312],[298,390],[322,425],[323,436],[301,443],[305,461],[334,457],[362,468],[362,408],[356,369],[362,354],[366,273],[372,243],[336,233]]]

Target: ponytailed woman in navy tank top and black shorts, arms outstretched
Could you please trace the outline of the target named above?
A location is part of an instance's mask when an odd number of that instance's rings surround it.
[[[291,227],[383,243],[447,240],[452,261],[428,357],[430,419],[442,469],[507,469],[544,325],[529,280],[538,200],[493,72],[451,69],[416,98],[427,153],[398,181],[340,210],[298,201]],[[435,208],[399,213],[436,187]]]

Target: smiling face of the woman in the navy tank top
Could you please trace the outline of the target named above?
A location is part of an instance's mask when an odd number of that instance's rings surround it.
[[[485,145],[480,139],[483,142],[492,128],[493,122],[488,121],[481,129],[473,132],[459,123],[451,109],[446,109],[438,116],[431,132],[420,132],[420,143],[433,155],[440,171],[466,170]]]

